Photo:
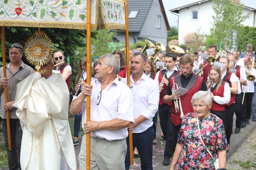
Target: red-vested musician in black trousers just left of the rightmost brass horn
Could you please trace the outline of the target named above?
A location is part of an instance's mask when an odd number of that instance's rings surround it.
[[[243,67],[236,65],[236,57],[234,57],[233,55],[228,56],[228,59],[230,62],[233,62],[234,64],[234,69],[236,69],[236,76],[238,77],[240,84],[241,85],[246,85],[246,73]],[[241,123],[242,123],[242,110],[243,110],[243,106],[242,106],[242,97],[243,97],[243,93],[241,90],[241,86],[238,85],[238,93],[236,94],[236,101],[234,103],[235,105],[235,114],[236,114],[236,129],[235,129],[235,133],[239,133],[241,130]]]

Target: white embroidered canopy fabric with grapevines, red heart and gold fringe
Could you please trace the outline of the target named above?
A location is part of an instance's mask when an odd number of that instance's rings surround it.
[[[86,30],[87,1],[3,0],[0,26]],[[91,0],[91,30],[126,30],[124,1]]]

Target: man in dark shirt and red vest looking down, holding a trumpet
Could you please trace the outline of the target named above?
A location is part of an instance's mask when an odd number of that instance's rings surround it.
[[[165,96],[163,97],[163,101],[166,103],[172,102],[172,116],[171,116],[171,124],[172,124],[172,135],[174,140],[174,148],[176,148],[177,137],[181,128],[181,121],[179,119],[181,115],[181,109],[186,115],[189,112],[194,112],[194,109],[189,102],[191,102],[192,96],[200,91],[206,91],[207,86],[203,77],[200,77],[192,72],[194,59],[189,54],[185,54],[180,58],[180,69],[181,74],[176,75],[175,77],[171,77],[170,82],[168,83]],[[172,80],[173,78],[173,80]],[[181,92],[172,93],[173,82],[177,84],[178,87],[183,87],[188,89],[188,91],[181,95]],[[176,113],[174,107],[174,100],[181,99],[181,106],[179,107],[179,111]]]

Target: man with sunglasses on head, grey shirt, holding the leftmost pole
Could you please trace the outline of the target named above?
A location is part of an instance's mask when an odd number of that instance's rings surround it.
[[[7,78],[3,77],[3,67],[0,69],[0,90],[1,90],[1,105],[0,105],[0,116],[2,118],[3,136],[5,148],[8,155],[9,169],[19,169],[20,163],[20,147],[22,141],[22,128],[18,117],[16,116],[16,108],[12,106],[15,100],[17,91],[16,85],[23,79],[28,77],[32,72],[31,67],[24,64],[21,60],[23,55],[23,47],[18,44],[12,44],[9,46],[9,58],[10,63],[6,67]],[[8,88],[8,102],[5,101],[4,86]],[[10,116],[10,130],[11,130],[11,143],[12,149],[8,148],[8,135],[7,135],[7,124],[6,124],[6,111],[9,110]]]

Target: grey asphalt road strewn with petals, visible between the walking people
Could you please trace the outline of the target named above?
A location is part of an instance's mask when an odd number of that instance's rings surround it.
[[[236,120],[236,117],[234,117],[234,121]],[[255,129],[256,127],[256,122],[253,122],[252,119],[250,119],[251,124],[247,125],[245,128],[242,128],[241,132],[239,134],[232,134],[230,138],[230,146],[229,146],[229,152],[227,153],[227,161],[228,159],[232,156],[234,152],[238,149],[238,147],[244,142],[244,140],[248,137],[248,135]],[[157,147],[153,149],[153,169],[154,170],[162,170],[162,169],[169,169],[169,166],[163,166],[162,161],[163,161],[163,153],[165,150],[165,140],[162,140],[160,137],[161,134],[161,128],[160,128],[160,123],[159,119],[157,121]],[[234,122],[235,125],[235,122]],[[233,127],[233,132],[234,132]],[[81,142],[82,139],[79,140]],[[77,159],[77,156],[80,151],[80,145],[75,146],[75,154],[76,154],[76,164],[77,167],[79,167],[79,162]],[[172,158],[170,159],[171,162]],[[140,168],[140,160],[139,159],[134,159],[134,164],[133,166],[130,167],[131,170],[139,170]],[[4,168],[2,170],[9,170],[9,168]]]

